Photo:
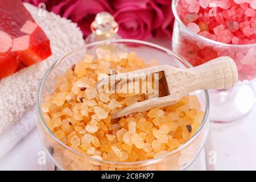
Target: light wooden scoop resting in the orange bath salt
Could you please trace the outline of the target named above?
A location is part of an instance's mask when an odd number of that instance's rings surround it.
[[[142,112],[154,107],[166,107],[175,104],[183,96],[202,89],[229,89],[238,81],[238,72],[234,60],[230,57],[218,57],[198,67],[181,69],[169,65],[159,65],[134,72],[113,75],[115,81],[123,76],[162,72],[166,78],[167,96],[136,102],[112,114],[112,119],[124,115]],[[135,77],[134,76],[134,77]],[[130,78],[130,77],[129,77]],[[116,84],[116,82],[115,82]]]

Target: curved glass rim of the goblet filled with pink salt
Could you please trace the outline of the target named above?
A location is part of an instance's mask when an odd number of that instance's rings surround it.
[[[187,26],[185,26],[185,24],[181,21],[180,16],[177,14],[176,11],[176,2],[179,2],[180,0],[174,0],[172,1],[172,13],[174,14],[175,20],[177,20],[177,22],[183,27],[185,28],[185,30],[188,30],[193,36],[196,36],[199,39],[203,39],[206,42],[212,43],[212,44],[217,44],[218,46],[225,46],[225,47],[238,47],[238,48],[242,48],[242,47],[251,47],[251,46],[256,46],[256,43],[254,44],[226,44],[226,43],[222,43],[222,42],[217,42],[215,40],[212,39],[208,39],[205,38],[204,36],[201,36],[199,34],[196,34],[195,32],[191,31]]]

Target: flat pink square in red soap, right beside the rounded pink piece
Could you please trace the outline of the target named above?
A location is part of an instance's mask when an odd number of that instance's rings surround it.
[[[11,48],[11,51],[12,52],[23,51],[27,49],[29,45],[30,45],[30,36],[23,35],[13,39],[13,47]]]

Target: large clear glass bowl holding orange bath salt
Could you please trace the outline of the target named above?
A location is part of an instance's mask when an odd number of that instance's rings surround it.
[[[92,53],[98,47],[119,47],[125,48],[127,52],[134,51],[139,57],[151,60],[157,59],[160,64],[169,64],[174,67],[189,68],[191,64],[177,56],[169,49],[138,40],[120,39],[105,40],[95,42],[75,49],[67,55],[57,60],[44,76],[38,92],[37,114],[38,131],[42,144],[47,154],[62,170],[183,170],[186,169],[199,154],[203,148],[205,139],[209,131],[208,111],[209,96],[207,90],[199,90],[192,94],[196,95],[201,104],[201,110],[205,112],[204,119],[201,122],[196,133],[176,150],[158,158],[143,160],[139,162],[109,162],[90,158],[90,156],[80,154],[72,148],[65,146],[59,139],[52,134],[44,121],[41,103],[44,97],[54,91],[56,76],[63,74],[67,69],[77,63],[86,52]]]

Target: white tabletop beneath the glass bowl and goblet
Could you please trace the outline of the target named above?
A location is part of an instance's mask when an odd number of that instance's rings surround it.
[[[170,47],[166,40],[152,40]],[[256,93],[256,83],[254,83]],[[47,159],[39,165],[40,151],[43,151],[36,129],[24,138],[4,158],[0,159],[0,170],[54,170]],[[216,164],[209,163],[216,154]],[[211,123],[209,137],[199,158],[188,170],[256,170],[256,106],[245,117],[231,123]]]

